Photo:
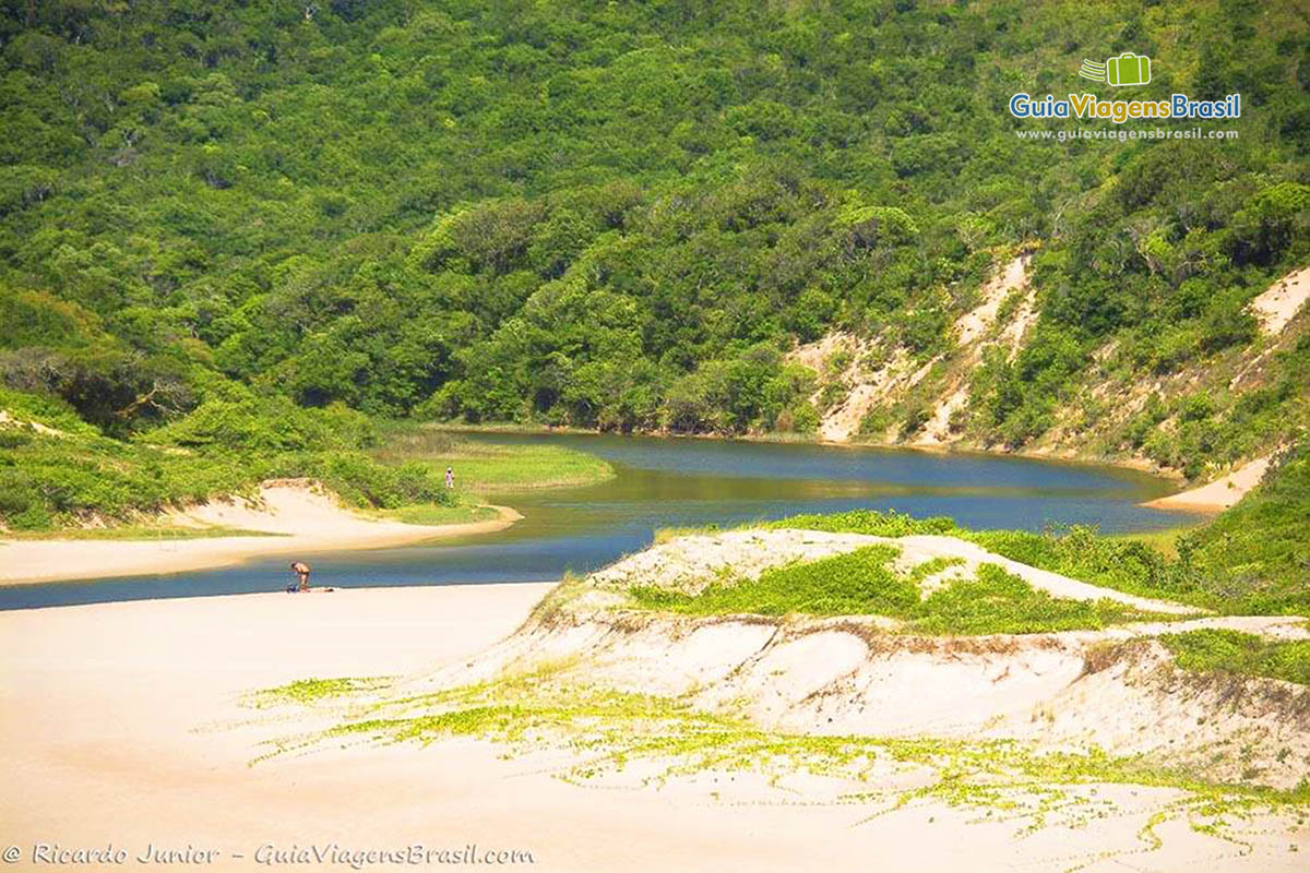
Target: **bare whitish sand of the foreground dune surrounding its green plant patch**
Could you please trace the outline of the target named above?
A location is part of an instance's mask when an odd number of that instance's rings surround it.
[[[1047,750],[1091,743],[1149,754],[1207,777],[1289,789],[1310,768],[1310,688],[1275,679],[1188,674],[1150,637],[1227,628],[1310,639],[1300,616],[1207,616],[1058,633],[967,637],[887,633],[872,615],[689,616],[634,609],[635,584],[694,593],[757,577],[770,565],[872,543],[901,550],[903,568],[959,558],[972,575],[994,563],[1070,599],[1110,598],[1183,616],[1191,607],[1132,597],[1040,571],[952,537],[899,539],[807,530],[688,535],[567,588],[533,622],[468,665],[414,677],[393,695],[567,665],[567,688],[676,696],[744,712],[789,733],[1022,738]]]

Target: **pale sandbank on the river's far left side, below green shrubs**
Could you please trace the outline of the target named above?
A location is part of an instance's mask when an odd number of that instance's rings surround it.
[[[267,483],[262,505],[215,501],[179,513],[182,526],[221,525],[274,537],[212,537],[159,541],[0,541],[0,585],[174,573],[227,567],[262,555],[296,555],[380,548],[508,527],[520,518],[496,508],[499,518],[464,525],[405,525],[364,518],[303,482]]]

